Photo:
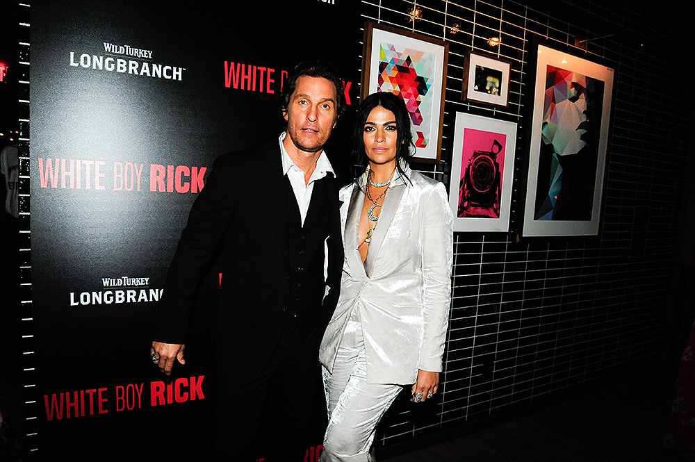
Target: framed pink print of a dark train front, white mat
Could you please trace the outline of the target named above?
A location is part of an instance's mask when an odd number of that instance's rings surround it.
[[[509,231],[516,124],[456,113],[449,204],[454,231]]]

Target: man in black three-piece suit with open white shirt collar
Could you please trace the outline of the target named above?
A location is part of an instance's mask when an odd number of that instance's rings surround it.
[[[281,98],[279,140],[215,160],[167,273],[150,351],[167,375],[183,364],[196,290],[221,251],[215,460],[254,459],[263,409],[268,462],[304,460],[318,343],[338,300],[338,183],[323,146],[345,109],[343,83],[324,63],[302,63]]]

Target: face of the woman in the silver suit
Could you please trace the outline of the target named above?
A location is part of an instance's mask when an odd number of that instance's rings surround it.
[[[393,113],[377,106],[364,122],[362,132],[364,150],[371,165],[393,164],[398,151],[398,128]]]

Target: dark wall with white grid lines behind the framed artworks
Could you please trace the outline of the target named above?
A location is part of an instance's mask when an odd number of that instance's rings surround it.
[[[395,404],[377,431],[377,447],[432,431],[472,425],[512,408],[655,363],[678,247],[692,97],[662,85],[660,68],[685,78],[692,44],[655,49],[682,24],[628,1],[364,0],[375,21],[449,42],[442,162],[416,170],[448,184],[456,112],[517,122],[512,230],[521,189],[528,50],[589,39],[588,57],[616,67],[603,224],[594,240],[516,241],[516,234],[456,233],[450,331],[443,393],[425,408]],[[685,5],[685,3],[683,3]],[[414,8],[420,19],[413,20]],[[692,10],[692,6],[689,6]],[[669,24],[669,28],[664,24]],[[681,28],[676,35],[684,34]],[[490,38],[500,38],[490,47]],[[691,42],[692,43],[692,42]],[[461,101],[466,51],[512,62],[509,106]],[[644,255],[631,255],[637,211],[648,211]],[[398,402],[398,401],[397,401]]]

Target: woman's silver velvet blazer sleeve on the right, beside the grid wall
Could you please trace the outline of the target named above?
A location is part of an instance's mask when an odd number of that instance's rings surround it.
[[[421,370],[441,372],[449,322],[454,217],[443,183],[430,190],[420,221],[423,259],[423,347]]]

